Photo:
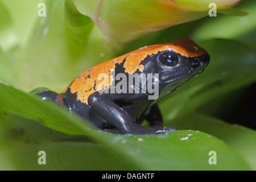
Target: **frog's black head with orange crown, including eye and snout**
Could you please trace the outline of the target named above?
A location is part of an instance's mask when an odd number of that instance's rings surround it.
[[[159,82],[162,85],[185,82],[199,75],[209,64],[207,51],[189,39],[164,44],[157,54]]]

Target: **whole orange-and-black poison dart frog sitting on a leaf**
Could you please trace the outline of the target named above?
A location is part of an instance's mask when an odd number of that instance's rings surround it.
[[[164,134],[157,102],[199,75],[210,56],[189,39],[146,46],[95,65],[81,73],[61,93],[38,90],[79,114],[99,130],[122,134]],[[130,78],[130,79],[129,79]],[[141,126],[146,120],[149,127]]]

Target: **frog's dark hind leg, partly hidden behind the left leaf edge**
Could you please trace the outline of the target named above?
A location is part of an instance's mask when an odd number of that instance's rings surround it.
[[[46,88],[38,88],[31,92],[32,94],[38,95],[43,101],[53,101],[61,106],[68,107],[68,102],[59,93],[53,92]]]

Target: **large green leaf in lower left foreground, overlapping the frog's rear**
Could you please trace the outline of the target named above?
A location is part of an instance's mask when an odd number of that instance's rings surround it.
[[[137,169],[92,142],[106,137],[68,110],[3,84],[0,100],[0,160],[6,164],[1,169]],[[42,150],[47,166],[38,164]]]

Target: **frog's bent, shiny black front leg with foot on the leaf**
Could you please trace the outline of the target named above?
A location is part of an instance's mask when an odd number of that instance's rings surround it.
[[[99,93],[94,92],[88,98],[88,104],[108,123],[117,127],[124,134],[162,134],[169,130],[157,129],[150,130],[135,123],[134,119],[125,110],[116,103],[142,101],[148,98],[147,94],[129,94],[129,93]]]

